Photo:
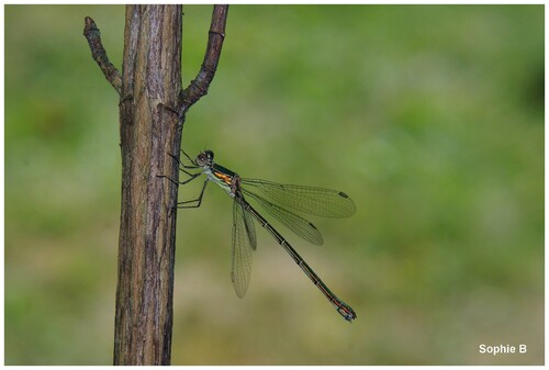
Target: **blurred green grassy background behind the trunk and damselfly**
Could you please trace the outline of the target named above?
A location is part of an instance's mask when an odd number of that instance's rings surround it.
[[[184,86],[210,14],[184,8]],[[8,365],[112,362],[117,97],[86,15],[120,67],[124,7],[5,7]],[[358,318],[259,227],[237,299],[209,187],[178,216],[172,363],[544,363],[544,44],[542,5],[232,5],[183,147],[349,193],[356,215],[313,220],[324,246],[283,232]]]

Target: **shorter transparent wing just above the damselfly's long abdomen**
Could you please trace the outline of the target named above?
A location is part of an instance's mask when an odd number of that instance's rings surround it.
[[[247,197],[255,199],[264,208],[264,210],[266,210],[270,215],[280,221],[280,223],[282,223],[285,227],[294,232],[296,235],[301,236],[302,238],[312,244],[323,245],[324,239],[322,237],[321,232],[318,232],[316,226],[313,225],[311,222],[296,215],[295,213],[292,213],[288,210],[284,210],[281,206],[278,206],[269,202],[268,200],[259,197],[258,194],[249,190],[243,190],[243,191]]]

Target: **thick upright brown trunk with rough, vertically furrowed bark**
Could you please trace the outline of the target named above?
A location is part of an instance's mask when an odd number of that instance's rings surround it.
[[[181,7],[126,8],[115,365],[170,363],[177,187],[157,175],[178,178],[167,154],[181,143],[170,110],[181,90]]]

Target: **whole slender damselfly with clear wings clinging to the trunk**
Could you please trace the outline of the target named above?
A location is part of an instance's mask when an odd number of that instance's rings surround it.
[[[215,164],[212,150],[200,153],[195,160],[191,159],[184,152],[183,154],[192,165],[183,165],[175,156],[171,157],[180,164],[179,169],[190,178],[182,182],[168,179],[177,184],[186,184],[201,175],[205,175],[206,179],[199,198],[179,202],[177,203],[178,208],[200,206],[209,181],[220,186],[234,199],[233,265],[231,278],[236,295],[243,298],[248,290],[251,274],[251,251],[257,246],[256,229],[253,220],[256,218],[274,237],[278,244],[288,251],[295,264],[301,267],[303,272],[305,272],[309,279],[321,290],[345,319],[350,322],[357,317],[355,311],[326,287],[305,260],[293,249],[290,243],[246,199],[247,197],[257,201],[271,216],[305,240],[322,245],[323,238],[318,229],[305,218],[287,210],[287,208],[324,217],[347,217],[355,213],[355,203],[346,193],[332,189],[280,184],[266,180],[240,178],[232,170]],[[200,171],[192,173],[187,171],[188,169],[200,169]],[[268,200],[259,195],[259,193],[266,195]]]

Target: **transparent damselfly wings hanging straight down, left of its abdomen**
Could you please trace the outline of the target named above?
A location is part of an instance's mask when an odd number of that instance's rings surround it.
[[[256,248],[256,231],[251,215],[236,199],[233,202],[233,266],[231,279],[236,295],[244,298],[251,277],[251,250]]]

